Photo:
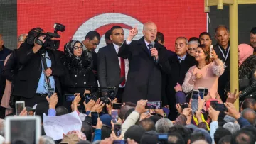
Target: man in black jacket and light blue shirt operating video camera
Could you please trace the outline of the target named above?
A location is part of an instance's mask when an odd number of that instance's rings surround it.
[[[14,79],[13,95],[19,96],[21,101],[25,101],[26,106],[33,107],[40,102],[47,102],[48,88],[53,88],[58,96],[61,96],[60,80],[63,67],[56,57],[55,51],[49,50],[45,46],[38,45],[36,41],[41,40],[41,44],[46,42],[46,35],[36,35],[43,30],[33,28],[28,33],[26,42],[21,45],[17,52],[17,61],[21,68]],[[39,37],[36,39],[36,37]],[[33,43],[34,41],[34,43]],[[43,68],[43,58],[46,59],[47,69]],[[48,84],[47,77],[49,79]]]

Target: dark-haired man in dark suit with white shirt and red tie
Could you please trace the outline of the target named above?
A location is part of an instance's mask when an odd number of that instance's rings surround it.
[[[112,43],[103,48],[100,48],[97,53],[98,62],[98,77],[100,87],[114,87],[118,84],[120,77],[125,77],[129,69],[129,62],[127,59],[117,57],[119,48],[124,43],[124,30],[121,26],[113,26],[110,30],[110,39]],[[115,89],[116,97],[119,102],[122,101],[122,94],[124,92],[125,79],[118,89]],[[102,89],[102,93],[106,94],[107,89]]]

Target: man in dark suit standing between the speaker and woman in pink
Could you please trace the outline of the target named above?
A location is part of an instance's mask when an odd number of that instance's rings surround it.
[[[191,55],[188,55],[188,39],[185,37],[179,37],[175,40],[175,52],[176,55],[169,58],[171,72],[167,74],[166,84],[166,98],[169,103],[169,118],[174,121],[177,117],[177,110],[175,107],[175,90],[174,87],[177,83],[183,84],[186,72],[190,67],[196,65],[196,60]]]

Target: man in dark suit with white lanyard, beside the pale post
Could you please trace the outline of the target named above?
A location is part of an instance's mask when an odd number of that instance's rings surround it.
[[[220,25],[215,29],[215,39],[217,44],[213,46],[219,59],[224,62],[225,71],[218,79],[218,94],[222,101],[225,101],[227,96],[225,96],[225,85],[230,82],[230,45],[229,45],[230,34],[228,32],[228,27]]]

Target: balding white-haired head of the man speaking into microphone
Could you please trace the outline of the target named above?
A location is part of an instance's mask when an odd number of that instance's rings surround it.
[[[142,33],[147,43],[151,43],[152,41],[156,40],[156,34],[157,34],[156,24],[151,21],[144,23]]]

